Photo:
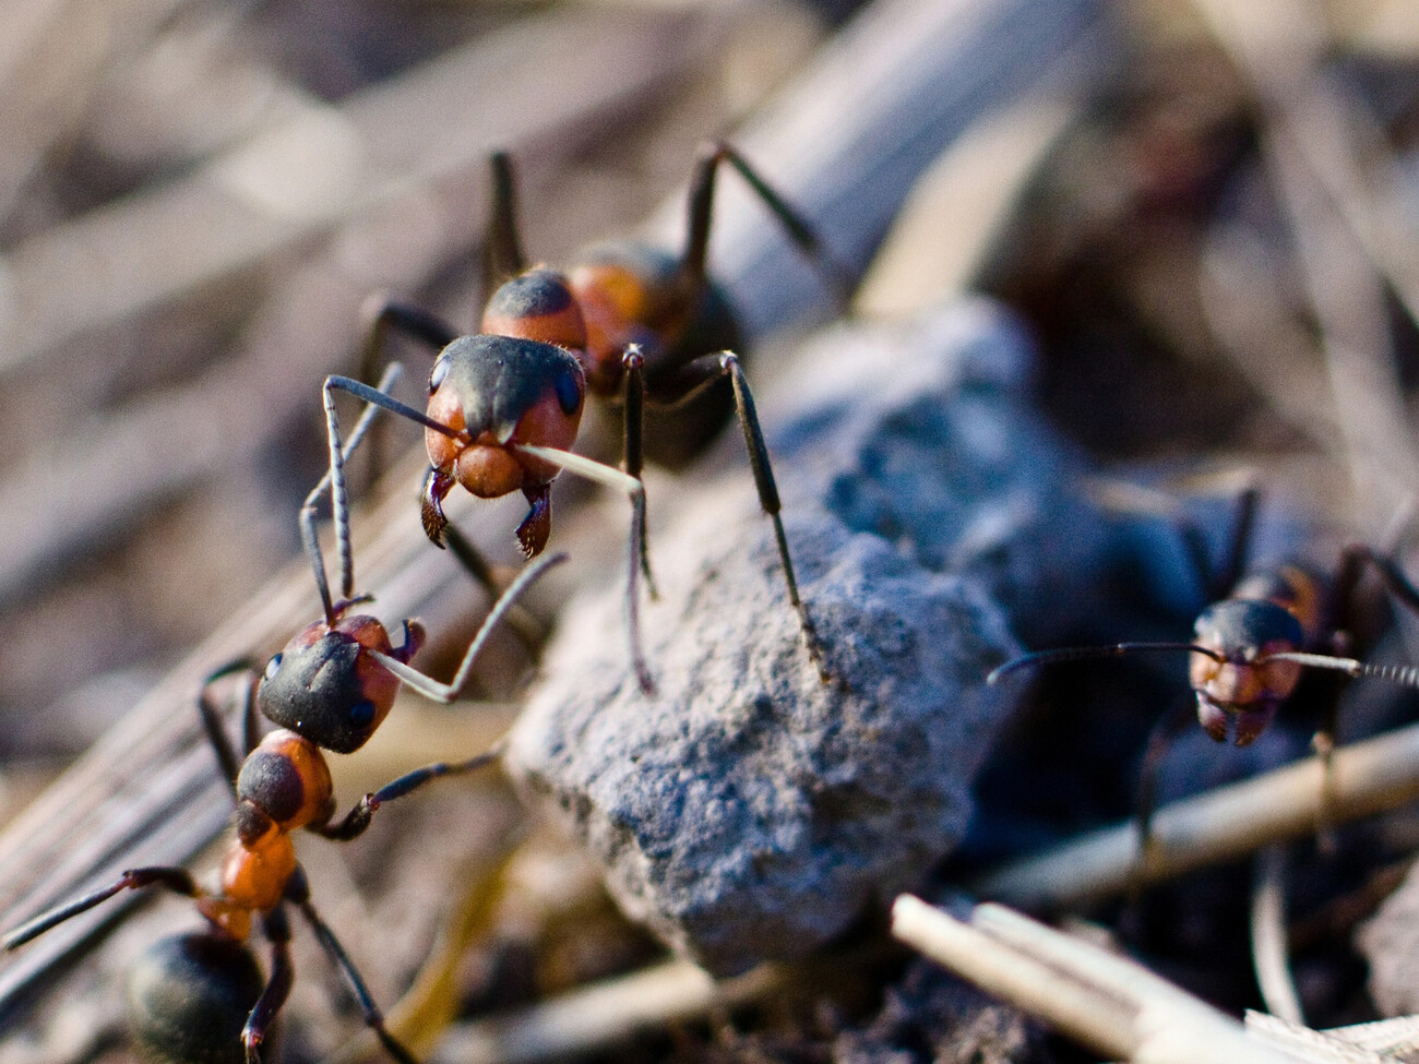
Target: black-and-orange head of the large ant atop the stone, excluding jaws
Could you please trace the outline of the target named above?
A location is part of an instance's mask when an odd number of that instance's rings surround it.
[[[559,470],[512,448],[570,448],[585,399],[582,366],[562,348],[515,336],[460,336],[429,377],[429,416],[458,434],[426,430],[429,462],[478,498],[546,485]]]

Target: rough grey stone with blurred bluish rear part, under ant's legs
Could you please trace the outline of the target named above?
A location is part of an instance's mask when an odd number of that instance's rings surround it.
[[[807,953],[956,846],[1010,709],[983,678],[1019,650],[1012,603],[1081,609],[1066,580],[1087,586],[1095,542],[1061,487],[1077,467],[1013,383],[1009,318],[968,304],[823,343],[847,365],[813,353],[771,448],[841,682],[799,641],[739,470],[653,542],[656,694],[629,675],[619,594],[583,596],[507,758],[627,914],[717,973]]]

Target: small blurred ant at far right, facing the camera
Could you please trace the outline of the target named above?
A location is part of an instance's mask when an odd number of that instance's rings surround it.
[[[1351,604],[1364,569],[1374,567],[1385,590],[1419,613],[1419,590],[1388,558],[1362,545],[1341,552],[1331,580],[1300,565],[1271,565],[1247,570],[1246,553],[1256,522],[1259,492],[1247,488],[1237,501],[1226,559],[1213,567],[1200,529],[1182,523],[1179,532],[1210,604],[1198,614],[1191,643],[1115,643],[1098,647],[1061,647],[1023,654],[995,668],[988,684],[1022,668],[1060,661],[1121,657],[1135,653],[1189,654],[1188,677],[1195,708],[1181,706],[1152,731],[1138,785],[1139,853],[1152,844],[1152,814],[1158,767],[1168,745],[1196,715],[1216,742],[1230,738],[1247,746],[1271,724],[1296,691],[1305,668],[1376,677],[1405,687],[1419,687],[1419,670],[1372,665],[1349,657]],[[1313,748],[1324,763],[1321,829],[1332,789],[1331,753],[1335,746],[1335,712],[1340,691],[1330,692]]]

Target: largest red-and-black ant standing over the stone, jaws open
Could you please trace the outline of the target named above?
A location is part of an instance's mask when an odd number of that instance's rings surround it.
[[[779,518],[779,494],[768,447],[759,428],[753,394],[731,348],[739,331],[728,302],[707,272],[711,207],[721,163],[732,166],[783,226],[793,244],[846,299],[847,272],[832,262],[817,237],[783,199],[731,146],[707,143],[690,182],[688,233],[677,257],[631,241],[596,245],[565,272],[528,267],[518,238],[512,163],[492,156],[492,216],[484,253],[484,281],[492,295],[481,332],[463,336],[417,306],[377,298],[368,308],[365,348],[368,375],[380,358],[390,329],[440,355],[429,379],[429,407],[419,411],[379,396],[368,384],[332,376],[332,392],[350,392],[424,427],[430,470],[421,492],[421,519],[429,538],[443,546],[447,518],[443,499],[455,484],[480,498],[521,489],[531,509],[517,536],[528,558],[546,545],[552,526],[552,480],[566,470],[631,497],[627,620],[631,661],[644,691],[653,689],[640,651],[637,569],[654,596],[646,545],[646,502],[640,474],[644,464],[646,406],[678,407],[728,379],[759,505],[772,519],[789,602],[797,613],[803,641],[823,670],[813,623],[799,597],[788,538]],[[624,414],[624,472],[593,462],[568,448],[575,443],[586,393],[619,401]],[[332,454],[339,426],[329,419]],[[336,478],[339,472],[336,471]],[[484,566],[485,567],[485,566]]]

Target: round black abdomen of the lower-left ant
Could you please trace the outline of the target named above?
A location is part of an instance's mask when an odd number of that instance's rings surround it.
[[[128,1026],[145,1060],[244,1064],[241,1031],[264,980],[240,942],[193,931],[159,939],[128,975]]]

